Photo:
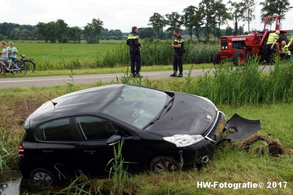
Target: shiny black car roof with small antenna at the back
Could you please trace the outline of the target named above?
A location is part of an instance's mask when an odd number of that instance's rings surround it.
[[[115,84],[73,92],[52,99],[52,102],[57,102],[55,107],[51,101],[47,101],[26,119],[24,129],[35,128],[42,122],[61,117],[98,114],[120,94],[123,86]]]

